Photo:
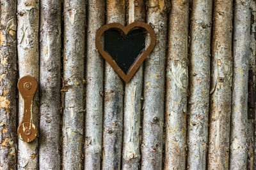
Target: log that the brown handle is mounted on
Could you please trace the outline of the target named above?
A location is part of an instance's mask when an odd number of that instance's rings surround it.
[[[39,73],[39,1],[18,0],[17,4],[17,50],[19,77],[33,76],[38,81]],[[38,129],[38,91],[33,97],[33,124]],[[24,112],[24,101],[19,95],[19,123]],[[38,138],[31,143],[19,139],[18,169],[38,169]]]

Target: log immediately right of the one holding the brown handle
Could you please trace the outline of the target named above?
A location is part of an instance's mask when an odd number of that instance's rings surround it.
[[[39,168],[60,169],[61,1],[40,1]]]

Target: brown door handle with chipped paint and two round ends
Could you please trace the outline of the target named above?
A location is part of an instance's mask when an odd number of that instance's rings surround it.
[[[31,142],[37,136],[36,126],[33,124],[32,118],[33,96],[37,90],[37,81],[32,76],[24,76],[18,81],[18,89],[24,99],[24,113],[17,133],[22,141]]]

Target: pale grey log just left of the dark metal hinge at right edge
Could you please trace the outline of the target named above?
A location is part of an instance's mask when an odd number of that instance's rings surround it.
[[[250,55],[250,0],[235,1],[233,91],[230,131],[230,169],[246,169],[248,59]]]

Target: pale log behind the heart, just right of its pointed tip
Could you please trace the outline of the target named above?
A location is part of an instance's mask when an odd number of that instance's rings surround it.
[[[134,20],[143,21],[145,17],[145,1],[129,0],[127,16],[128,24],[131,24]],[[142,84],[143,65],[140,66],[131,81],[125,85],[122,169],[138,169],[140,165]]]

